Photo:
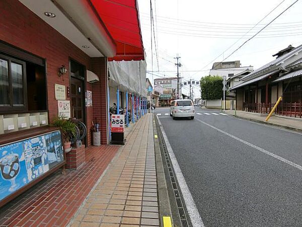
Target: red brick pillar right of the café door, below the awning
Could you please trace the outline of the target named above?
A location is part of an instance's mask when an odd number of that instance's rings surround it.
[[[99,81],[92,84],[93,121],[101,124],[101,144],[107,144],[107,61],[106,58],[92,58],[91,70]]]

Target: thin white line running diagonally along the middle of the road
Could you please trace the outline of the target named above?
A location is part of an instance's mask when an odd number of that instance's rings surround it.
[[[274,157],[274,158],[277,158],[278,160],[283,161],[283,162],[285,162],[286,164],[289,164],[289,165],[291,165],[291,166],[293,166],[293,167],[296,167],[296,168],[302,170],[302,166],[300,166],[300,165],[298,165],[298,164],[296,164],[296,163],[294,163],[294,162],[292,162],[292,161],[289,161],[289,160],[287,160],[287,159],[285,159],[285,158],[280,157],[279,155],[273,154],[273,153],[271,153],[271,152],[269,152],[269,151],[267,151],[267,150],[265,150],[265,149],[263,149],[263,148],[261,148],[261,147],[258,147],[258,146],[254,145],[254,144],[251,144],[251,143],[249,143],[249,142],[247,142],[247,141],[245,141],[245,140],[243,140],[243,139],[240,139],[240,138],[238,138],[238,137],[236,137],[236,136],[233,136],[233,135],[231,135],[230,133],[224,132],[223,130],[218,129],[218,128],[216,128],[216,127],[210,125],[210,124],[207,124],[207,123],[205,123],[205,122],[203,122],[203,121],[201,121],[201,120],[199,120],[199,119],[196,119],[196,120],[199,121],[200,123],[202,123],[202,124],[208,126],[208,127],[211,127],[212,129],[217,130],[218,132],[223,133],[224,135],[230,136],[231,138],[233,138],[233,139],[235,139],[235,140],[238,140],[238,141],[240,141],[240,142],[242,142],[242,143],[244,143],[244,144],[246,144],[246,145],[248,145],[248,146],[250,146],[250,147],[253,147],[253,148],[255,148],[255,149],[257,149],[257,150],[259,150],[259,151],[261,151],[261,152],[263,152],[263,153],[265,153],[265,154],[268,154],[268,155],[270,155],[270,156],[272,156],[272,157]]]

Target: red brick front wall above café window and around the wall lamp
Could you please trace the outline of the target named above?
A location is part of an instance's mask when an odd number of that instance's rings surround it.
[[[51,122],[58,114],[57,101],[54,98],[54,83],[69,86],[69,58],[85,65],[87,69],[91,69],[91,59],[17,0],[1,0],[0,15],[0,40],[46,59],[48,110]],[[57,75],[61,65],[65,65],[68,69],[64,81]],[[92,91],[92,85],[89,83],[87,83],[87,90]],[[92,107],[88,107],[88,145],[91,144],[92,113]]]

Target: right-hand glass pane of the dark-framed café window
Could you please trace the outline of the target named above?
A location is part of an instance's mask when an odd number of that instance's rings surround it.
[[[24,105],[23,97],[23,69],[22,65],[12,63],[13,105]]]

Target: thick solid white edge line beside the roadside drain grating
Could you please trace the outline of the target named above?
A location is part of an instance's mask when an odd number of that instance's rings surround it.
[[[164,137],[164,140],[165,140],[165,143],[166,143],[166,146],[167,146],[167,150],[169,152],[169,156],[170,156],[173,168],[174,168],[174,172],[175,172],[175,175],[176,175],[181,193],[184,197],[184,201],[185,201],[187,211],[188,211],[190,219],[191,219],[192,226],[193,227],[204,227],[204,224],[201,220],[200,214],[197,210],[196,204],[193,200],[193,197],[192,197],[191,192],[188,188],[186,180],[185,180],[185,178],[184,178],[184,176],[181,172],[181,169],[179,167],[179,164],[178,164],[177,159],[174,155],[174,152],[172,150],[172,147],[169,143],[168,137],[165,133],[165,130],[162,126],[162,123],[161,123],[159,117],[158,117],[158,120],[159,120],[159,123],[160,123],[160,127],[161,127],[161,130],[162,130],[162,133],[163,133],[163,137]]]

